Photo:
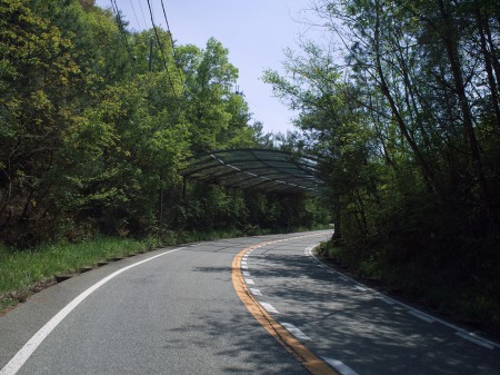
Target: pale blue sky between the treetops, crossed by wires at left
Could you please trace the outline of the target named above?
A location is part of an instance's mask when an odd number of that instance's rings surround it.
[[[116,0],[129,29],[151,27],[147,0]],[[160,0],[150,0],[154,23],[167,29]],[[97,0],[110,8],[110,0]],[[170,31],[177,45],[204,48],[210,37],[229,49],[229,60],[239,70],[237,85],[243,91],[253,120],[264,132],[293,130],[289,110],[272,88],[262,81],[266,69],[282,71],[286,48],[298,49],[307,31],[300,21],[307,17],[310,0],[163,0]]]

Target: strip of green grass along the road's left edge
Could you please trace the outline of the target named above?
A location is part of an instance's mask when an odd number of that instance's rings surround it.
[[[300,228],[302,230],[310,230]],[[31,294],[54,284],[60,274],[78,273],[84,267],[96,266],[131,254],[143,253],[161,246],[214,240],[220,238],[270,234],[270,230],[211,230],[166,231],[161,239],[97,237],[78,244],[42,245],[34,249],[17,250],[0,243],[0,313],[24,302]]]

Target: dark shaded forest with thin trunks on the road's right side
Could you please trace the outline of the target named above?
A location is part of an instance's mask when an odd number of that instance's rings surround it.
[[[310,19],[322,42],[266,79],[323,160],[330,254],[500,328],[500,3],[319,0]]]

